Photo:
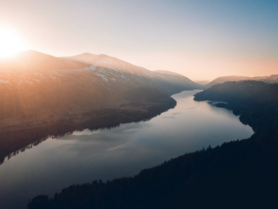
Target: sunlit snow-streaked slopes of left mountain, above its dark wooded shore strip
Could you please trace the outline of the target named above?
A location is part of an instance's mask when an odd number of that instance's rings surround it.
[[[131,97],[140,100],[136,94],[142,95],[142,91],[145,95],[149,90],[171,95],[198,88],[200,85],[186,77],[149,71],[107,55],[59,58],[24,51],[0,61],[0,127],[16,124],[16,120],[5,122],[8,117],[72,115],[116,108],[129,103]],[[158,99],[158,94],[153,94]]]

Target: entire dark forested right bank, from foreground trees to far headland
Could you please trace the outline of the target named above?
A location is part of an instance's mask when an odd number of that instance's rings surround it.
[[[195,100],[228,102],[256,131],[249,139],[185,154],[133,178],[72,185],[28,208],[277,208],[278,84],[226,82]],[[235,139],[236,140],[236,139]]]

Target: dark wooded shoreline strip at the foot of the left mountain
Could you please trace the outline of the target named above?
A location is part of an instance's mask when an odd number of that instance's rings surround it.
[[[51,136],[63,136],[73,131],[84,129],[96,130],[100,128],[116,127],[121,123],[139,122],[150,120],[161,113],[176,106],[176,101],[169,97],[168,100],[161,102],[146,102],[137,107],[107,108],[87,111],[86,114],[79,116],[66,116],[54,118],[48,122],[45,120],[29,123],[30,126],[22,127],[22,124],[11,126],[4,131],[0,129],[0,165],[5,158],[10,159],[25,149],[36,146]],[[40,125],[43,124],[41,127]],[[25,124],[26,125],[26,124]],[[32,127],[33,125],[33,127]],[[18,128],[17,130],[14,130]]]

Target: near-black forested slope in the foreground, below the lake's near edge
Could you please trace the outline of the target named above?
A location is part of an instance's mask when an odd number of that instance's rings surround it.
[[[277,138],[224,143],[134,178],[72,185],[32,208],[276,208]]]

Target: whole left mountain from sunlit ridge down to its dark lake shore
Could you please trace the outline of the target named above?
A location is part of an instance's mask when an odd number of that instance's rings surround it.
[[[0,60],[0,163],[47,135],[153,117],[175,106],[172,94],[200,88],[107,55],[23,51]]]

